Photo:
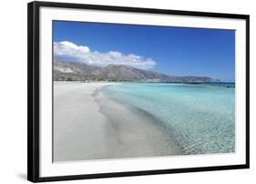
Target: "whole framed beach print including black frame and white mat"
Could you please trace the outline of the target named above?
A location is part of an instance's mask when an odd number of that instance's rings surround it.
[[[249,15],[28,4],[28,180],[249,168]]]

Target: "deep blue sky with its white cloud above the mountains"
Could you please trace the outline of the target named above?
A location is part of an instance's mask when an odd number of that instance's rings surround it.
[[[235,31],[54,22],[55,57],[234,81]]]

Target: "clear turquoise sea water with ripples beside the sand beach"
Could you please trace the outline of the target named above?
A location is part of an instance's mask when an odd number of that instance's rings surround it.
[[[122,83],[103,91],[158,118],[183,154],[235,151],[233,83]]]

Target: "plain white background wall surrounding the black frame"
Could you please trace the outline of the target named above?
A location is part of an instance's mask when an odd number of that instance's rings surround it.
[[[63,0],[64,1],[64,0]],[[0,183],[26,181],[26,3],[0,5]],[[251,15],[251,169],[198,173],[90,179],[62,183],[255,183],[256,179],[256,5],[253,0],[66,0],[69,3],[124,5]]]

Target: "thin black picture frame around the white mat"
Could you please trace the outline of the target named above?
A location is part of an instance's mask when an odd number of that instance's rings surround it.
[[[150,13],[160,15],[192,15],[218,18],[235,18],[246,21],[246,163],[217,167],[201,167],[186,169],[140,170],[117,173],[85,174],[41,178],[39,175],[39,8],[42,6],[56,8],[109,10],[119,12]],[[196,172],[224,169],[250,168],[250,15],[219,14],[208,12],[178,11],[167,9],[123,7],[109,5],[81,5],[52,2],[32,2],[27,5],[27,179],[33,182],[57,181],[70,179],[97,179],[112,177],[128,177],[140,175],[156,175],[181,172]]]

